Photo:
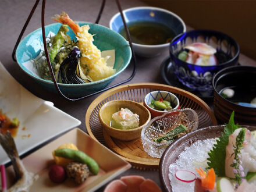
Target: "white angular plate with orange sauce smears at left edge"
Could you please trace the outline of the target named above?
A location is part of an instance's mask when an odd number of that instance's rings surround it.
[[[21,86],[0,62],[0,109],[20,121],[15,143],[19,155],[81,124],[80,120],[55,108]],[[0,164],[9,162],[0,147]]]

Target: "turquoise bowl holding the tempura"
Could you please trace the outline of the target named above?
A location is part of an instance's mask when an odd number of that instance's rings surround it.
[[[80,26],[88,24],[90,26],[89,32],[94,35],[94,45],[97,46],[101,51],[115,49],[115,65],[116,73],[110,77],[102,80],[93,81],[91,83],[84,84],[63,84],[58,83],[61,91],[69,97],[81,97],[94,93],[96,91],[102,90],[108,86],[109,83],[116,76],[118,76],[130,63],[131,59],[131,49],[125,38],[122,35],[115,33],[115,31],[110,30],[107,27],[101,26],[99,24],[87,23],[87,22],[76,22]],[[45,34],[47,35],[49,31],[53,33],[58,33],[60,23],[49,24],[45,26]],[[72,38],[76,39],[75,34],[69,28],[67,34]],[[41,86],[47,88],[49,91],[57,93],[54,83],[50,80],[44,80],[40,77],[35,76],[23,65],[24,62],[29,61],[31,58],[34,59],[38,56],[41,51],[42,42],[42,30],[37,29],[27,35],[19,44],[16,51],[16,59],[22,70],[32,77]]]

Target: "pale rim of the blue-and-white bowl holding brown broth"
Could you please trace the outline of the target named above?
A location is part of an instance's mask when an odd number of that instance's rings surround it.
[[[182,33],[185,33],[187,28],[186,28],[186,24],[184,23],[184,21],[182,20],[182,18],[178,15],[176,15],[175,13],[169,11],[169,10],[166,10],[166,9],[162,9],[162,8],[157,8],[157,7],[154,7],[154,6],[137,6],[137,7],[134,7],[134,8],[129,8],[129,9],[125,9],[123,10],[123,13],[126,13],[126,12],[130,12],[132,10],[138,10],[138,9],[142,9],[142,10],[159,10],[159,11],[162,11],[162,12],[165,12],[165,13],[168,13],[169,15],[172,15],[174,17],[176,17],[180,23],[182,24],[183,26],[183,32]],[[109,29],[113,30],[112,29],[112,23],[115,21],[115,19],[120,15],[120,12],[116,13],[112,18],[111,20],[109,21]],[[116,32],[116,31],[115,31]],[[116,32],[118,33],[118,32]],[[137,44],[135,42],[133,42],[133,45],[137,45],[137,46],[140,46],[140,47],[168,47],[170,45],[170,42],[168,43],[165,43],[165,44],[159,44],[159,45],[143,45],[143,44]]]

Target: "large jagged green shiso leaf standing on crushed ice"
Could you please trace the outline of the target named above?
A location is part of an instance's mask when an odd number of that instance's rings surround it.
[[[229,124],[225,124],[224,133],[222,136],[216,140],[216,144],[210,152],[208,152],[209,158],[207,159],[209,162],[208,168],[214,168],[216,175],[219,177],[225,177],[225,158],[226,158],[226,145],[229,144],[229,136],[234,132],[234,130],[238,129],[239,125],[234,124],[234,112],[232,112]]]

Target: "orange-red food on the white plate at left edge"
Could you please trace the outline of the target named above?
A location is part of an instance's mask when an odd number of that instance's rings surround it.
[[[5,116],[5,120],[0,120],[0,133],[5,134],[7,131],[10,131],[12,137],[15,137],[17,135],[19,125],[13,126],[12,121],[0,110],[0,119],[2,119],[1,116]]]

